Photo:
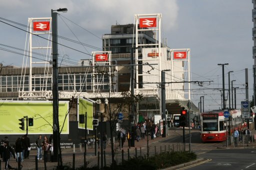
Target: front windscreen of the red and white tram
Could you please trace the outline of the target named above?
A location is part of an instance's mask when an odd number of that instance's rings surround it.
[[[202,116],[202,131],[218,131],[217,114],[209,114]]]

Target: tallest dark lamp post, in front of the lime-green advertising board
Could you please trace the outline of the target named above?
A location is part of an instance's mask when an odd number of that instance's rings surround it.
[[[51,9],[52,18],[52,101],[53,101],[53,162],[59,162],[59,122],[58,122],[58,39],[57,39],[57,12],[66,12],[67,8]]]

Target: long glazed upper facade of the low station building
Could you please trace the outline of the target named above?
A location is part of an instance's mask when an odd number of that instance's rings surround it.
[[[58,90],[60,91],[79,91],[86,92],[92,90],[92,74],[59,74],[58,75]],[[112,80],[113,82],[113,80]],[[96,90],[109,90],[109,80],[107,76],[96,75],[95,87]],[[50,91],[51,78],[45,78],[39,75],[32,78],[32,91]],[[29,77],[12,75],[0,76],[0,92],[18,92],[29,91]]]

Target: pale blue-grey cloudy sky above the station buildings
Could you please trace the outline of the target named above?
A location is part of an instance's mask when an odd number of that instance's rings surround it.
[[[251,0],[0,0],[0,4],[0,48],[24,49],[26,42],[26,32],[21,30],[25,27],[4,19],[27,25],[28,18],[50,17],[51,9],[66,7],[66,13],[59,12],[59,34],[101,49],[101,36],[110,33],[111,25],[134,23],[134,14],[161,13],[161,37],[170,48],[190,48],[191,80],[204,82],[202,87],[192,85],[191,100],[196,106],[204,96],[204,111],[221,108],[222,67],[217,64],[224,63],[228,63],[224,66],[225,88],[229,71],[233,71],[233,87],[239,87],[237,108],[245,101],[245,68],[252,99]],[[81,51],[63,49],[74,63],[98,51],[70,41],[61,43]],[[4,50],[0,55],[3,65],[22,66],[22,55]]]

